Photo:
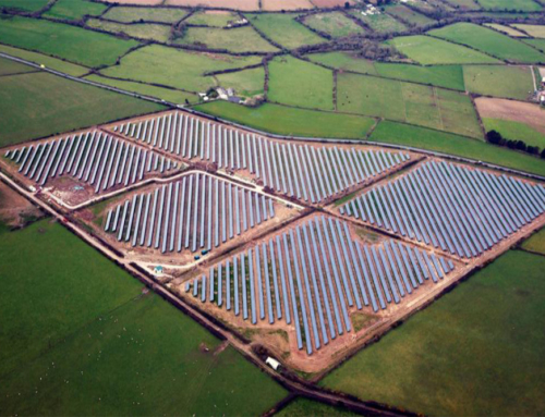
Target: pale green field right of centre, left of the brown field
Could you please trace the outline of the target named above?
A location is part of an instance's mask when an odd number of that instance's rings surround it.
[[[469,97],[445,89],[356,74],[337,77],[339,111],[482,137]]]

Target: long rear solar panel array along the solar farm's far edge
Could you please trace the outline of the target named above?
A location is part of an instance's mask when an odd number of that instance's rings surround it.
[[[313,204],[410,159],[404,152],[278,143],[181,112],[120,124],[113,131],[183,158],[247,170],[265,186]]]

